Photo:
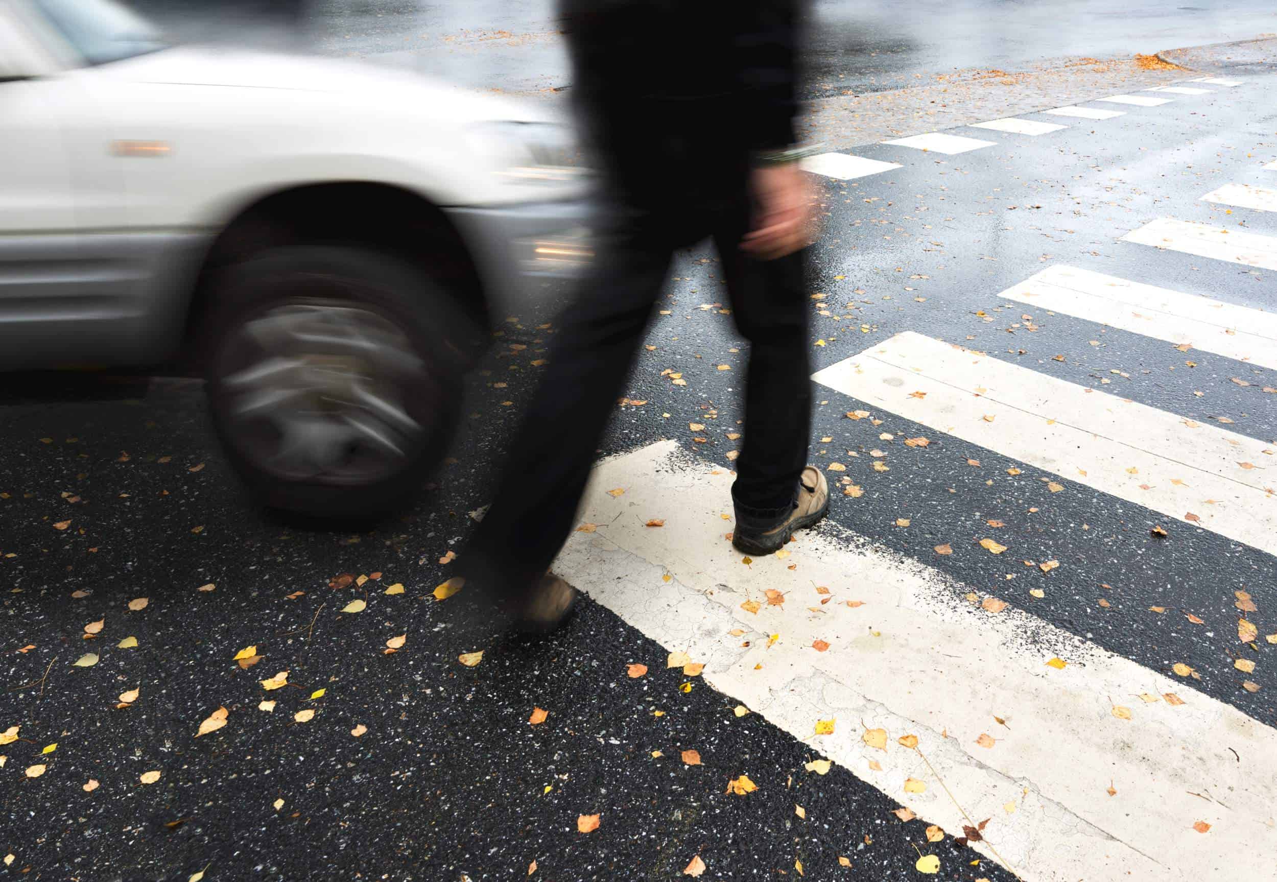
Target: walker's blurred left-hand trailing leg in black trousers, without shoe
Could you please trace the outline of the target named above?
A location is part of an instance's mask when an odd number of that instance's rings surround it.
[[[516,615],[572,530],[669,265],[672,248],[661,239],[632,230],[607,239],[559,319],[495,498],[464,554],[467,581]]]

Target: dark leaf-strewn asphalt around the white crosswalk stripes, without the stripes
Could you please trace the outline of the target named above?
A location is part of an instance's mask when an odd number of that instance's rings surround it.
[[[1273,216],[1199,202],[1277,158],[1274,88],[1269,74],[1103,123],[1039,116],[1070,128],[1036,139],[964,129],[1000,146],[962,156],[857,149],[903,167],[813,179],[826,212],[812,249],[813,294],[826,295],[812,301],[812,341],[826,343],[813,346],[813,368],[918,331],[1186,419],[1227,417],[1230,430],[1277,445],[1277,407],[1262,391],[1277,387],[1277,371],[996,297],[1070,263],[1273,309],[1271,271],[1117,237],[1158,216],[1277,235]],[[654,348],[626,389],[647,403],[618,406],[599,452],[683,438],[688,421],[715,411],[709,443],[686,443],[730,467],[747,347],[719,314],[727,297],[711,249],[681,253],[670,276]],[[589,599],[562,632],[527,641],[502,636],[465,594],[432,596],[456,568],[442,560],[462,550],[470,512],[488,500],[562,295],[547,290],[502,322],[467,379],[466,422],[435,485],[359,531],[255,508],[212,439],[198,383],[10,377],[0,398],[0,733],[19,731],[0,744],[0,853],[14,855],[0,872],[456,881],[522,878],[535,862],[534,879],[570,882],[682,878],[699,855],[705,878],[797,878],[801,863],[812,879],[912,879],[917,858],[936,854],[935,878],[1014,878],[951,836],[928,841],[925,822],[902,821],[845,770],[808,771],[819,754],[667,670],[665,648]],[[894,416],[848,420],[863,406],[854,398],[819,389],[817,402],[812,460],[850,462],[865,490],[835,494],[833,521],[1151,669],[1188,664],[1200,679],[1186,679],[1185,693],[1277,724],[1277,647],[1251,650],[1235,634],[1237,590],[1254,595],[1259,632],[1277,631],[1271,555],[1068,480],[1051,493],[1046,472]],[[884,431],[932,443],[905,452]],[[889,449],[890,472],[870,471],[872,448]],[[891,527],[900,517],[909,530]],[[973,546],[990,518],[1006,523],[999,540],[1016,560]],[[954,554],[935,554],[940,542]],[[1009,582],[1022,557],[1061,565]],[[387,594],[395,585],[404,591]],[[342,611],[356,600],[366,609]],[[120,646],[130,637],[135,647]],[[248,647],[258,661],[244,668],[235,656]],[[480,650],[476,666],[458,664]],[[75,666],[86,654],[96,664]],[[1257,661],[1245,676],[1234,666],[1243,654]],[[649,670],[631,678],[632,664]],[[285,670],[286,685],[263,688]],[[220,708],[225,725],[198,735]],[[531,724],[536,708],[548,715]],[[683,759],[688,749],[700,765]],[[741,775],[757,790],[728,791]],[[598,830],[578,832],[594,814]]]

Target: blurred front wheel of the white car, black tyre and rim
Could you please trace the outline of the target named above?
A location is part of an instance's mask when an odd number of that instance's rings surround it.
[[[262,253],[213,294],[213,421],[258,499],[361,519],[420,489],[460,407],[444,291],[393,255],[315,246]]]

